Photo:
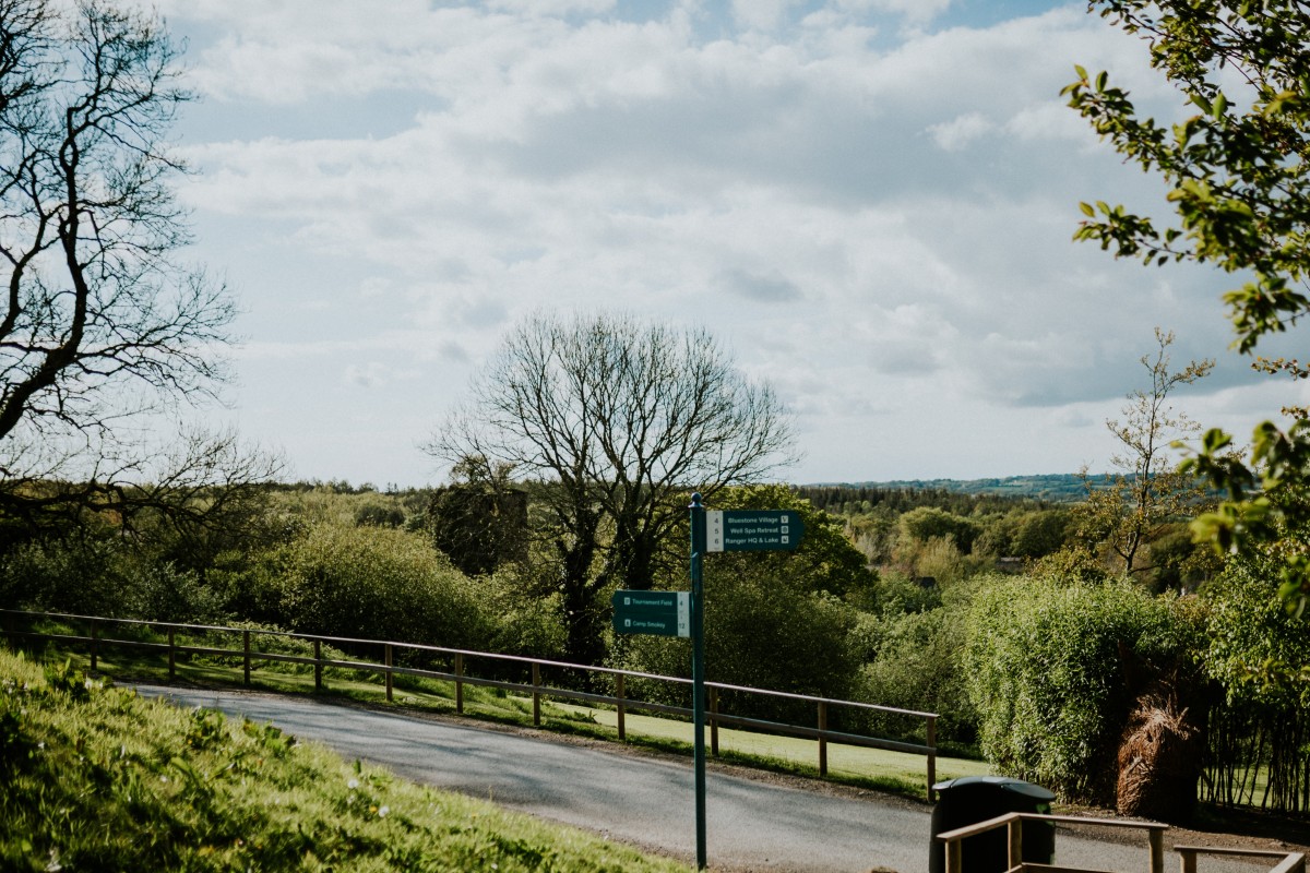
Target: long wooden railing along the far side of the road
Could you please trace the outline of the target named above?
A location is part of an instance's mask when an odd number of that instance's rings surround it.
[[[85,632],[69,632],[69,633],[42,633],[30,630],[31,623],[37,620],[48,620],[63,624],[81,626]],[[25,622],[28,627],[20,630],[18,624]],[[162,641],[152,640],[132,640],[123,639],[121,636],[106,635],[107,628],[115,627],[135,627],[147,631],[153,631],[156,635],[161,636]],[[393,699],[393,687],[396,675],[413,675],[428,679],[439,679],[453,683],[455,686],[455,711],[457,713],[464,713],[464,687],[465,686],[481,686],[489,688],[500,688],[510,692],[524,694],[532,698],[532,720],[534,725],[541,724],[541,700],[542,698],[558,698],[565,700],[576,700],[582,703],[593,703],[603,705],[614,707],[617,715],[617,732],[618,738],[626,739],[626,724],[625,716],[629,711],[637,709],[643,712],[658,712],[665,715],[684,716],[689,717],[692,715],[690,707],[680,707],[668,703],[658,703],[651,700],[638,700],[629,698],[625,692],[625,685],[630,679],[642,679],[650,682],[668,683],[690,686],[690,679],[684,679],[679,677],[667,677],[650,673],[639,673],[634,670],[620,670],[614,668],[600,668],[600,666],[587,666],[580,664],[567,664],[562,661],[548,661],[544,658],[531,658],[515,654],[495,654],[490,652],[474,652],[468,649],[452,649],[438,645],[421,645],[415,643],[396,643],[388,640],[362,640],[341,636],[318,636],[313,633],[290,633],[286,631],[269,631],[259,628],[238,628],[238,627],[224,627],[214,624],[182,624],[173,622],[143,622],[138,619],[118,619],[118,618],[102,618],[94,615],[71,615],[64,613],[31,613],[25,610],[0,610],[0,630],[10,641],[18,640],[48,640],[60,644],[84,645],[88,650],[90,658],[90,669],[97,669],[97,662],[101,652],[106,647],[114,648],[136,648],[144,650],[157,652],[168,658],[169,679],[177,678],[177,658],[179,654],[202,654],[211,657],[227,657],[238,658],[242,666],[242,679],[245,685],[252,683],[252,670],[255,669],[257,662],[282,662],[282,664],[299,664],[313,666],[314,673],[314,690],[324,690],[324,669],[325,668],[339,668],[347,670],[362,670],[368,673],[379,673],[383,675],[383,682],[385,686],[386,699]],[[179,635],[199,635],[199,633],[216,633],[216,635],[232,635],[240,637],[240,648],[223,648],[214,645],[190,645],[178,641]],[[267,652],[258,648],[261,639],[269,637],[283,637],[292,640],[305,640],[313,645],[313,656],[305,654],[288,654],[284,652]],[[343,657],[326,658],[322,653],[324,644],[330,645],[345,645],[355,650],[360,648],[380,648],[381,658],[380,661],[365,661],[365,660],[347,660]],[[397,652],[415,652],[426,653],[426,656],[444,657],[449,669],[434,670],[414,666],[398,666],[396,665]],[[358,656],[352,656],[358,657]],[[496,679],[489,677],[478,677],[469,671],[470,661],[485,661],[498,665],[517,665],[520,668],[527,668],[531,670],[529,682],[511,682],[506,679]],[[563,686],[549,686],[542,683],[541,671],[544,668],[563,670],[567,673],[578,674],[596,674],[605,675],[612,679],[613,694],[597,694],[592,691],[580,691],[576,688],[569,688]],[[903,751],[916,755],[924,755],[926,759],[926,784],[927,784],[927,800],[933,801],[933,784],[937,781],[937,713],[933,712],[917,712],[913,709],[897,709],[895,707],[882,707],[872,703],[858,703],[854,700],[837,700],[832,698],[817,698],[803,694],[789,694],[785,691],[768,691],[764,688],[751,688],[744,686],[726,685],[720,682],[706,682],[709,705],[707,705],[707,725],[710,729],[710,750],[711,754],[719,754],[719,728],[720,726],[734,726],[743,728],[747,730],[758,730],[765,733],[776,734],[789,734],[794,737],[803,737],[815,739],[817,743],[819,753],[819,775],[828,775],[828,743],[844,743],[849,746],[861,746],[866,749],[887,749],[891,751]],[[727,712],[722,712],[719,707],[720,694],[730,691],[734,694],[747,694],[758,695],[762,698],[772,698],[779,700],[794,700],[798,703],[806,703],[814,707],[815,722],[814,725],[791,724],[783,721],[768,721],[764,719],[752,719],[747,716],[738,716]],[[846,732],[831,730],[828,728],[828,716],[832,711],[848,708],[853,711],[866,711],[866,712],[882,712],[891,713],[896,716],[904,716],[908,719],[917,719],[924,721],[924,743],[913,742],[900,742],[896,739],[882,739],[878,737],[866,737],[862,734],[853,734]]]

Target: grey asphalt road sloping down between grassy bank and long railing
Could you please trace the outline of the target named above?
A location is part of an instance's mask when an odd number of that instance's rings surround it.
[[[561,742],[533,732],[334,705],[308,698],[136,686],[186,707],[272,722],[346,758],[381,764],[414,781],[608,834],[694,861],[696,813],[686,759]],[[802,791],[711,768],[706,842],[711,869],[834,873],[927,869],[927,806],[870,793]],[[1062,865],[1145,870],[1145,838],[1132,844],[1061,831]],[[1167,859],[1169,866],[1176,861]],[[1251,866],[1207,864],[1207,873]]]

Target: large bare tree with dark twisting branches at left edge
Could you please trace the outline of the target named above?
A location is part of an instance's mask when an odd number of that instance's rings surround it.
[[[123,483],[159,453],[138,416],[211,398],[225,376],[216,349],[233,302],[178,258],[189,230],[172,183],[185,166],[166,137],[191,96],[177,59],[156,18],[110,0],[0,0],[0,510],[10,516],[123,504]],[[278,469],[237,458],[227,436],[183,441],[191,466],[156,471],[165,482]]]

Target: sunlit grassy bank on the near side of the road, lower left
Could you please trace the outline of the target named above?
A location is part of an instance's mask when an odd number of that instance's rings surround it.
[[[683,870],[0,650],[0,869]]]

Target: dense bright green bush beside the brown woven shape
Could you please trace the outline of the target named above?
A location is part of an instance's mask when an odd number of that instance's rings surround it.
[[[990,581],[969,611],[964,652],[982,753],[1002,772],[1068,800],[1112,801],[1115,753],[1136,691],[1124,653],[1189,664],[1199,631],[1188,601],[1129,584]]]

